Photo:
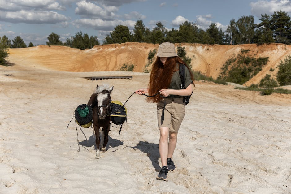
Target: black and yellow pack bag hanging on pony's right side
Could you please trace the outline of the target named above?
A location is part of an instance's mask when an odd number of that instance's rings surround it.
[[[114,123],[115,125],[121,125],[126,121],[126,116],[127,116],[127,109],[123,106],[123,104],[118,101],[112,101],[111,104],[111,114],[110,114],[110,119],[111,122]]]

